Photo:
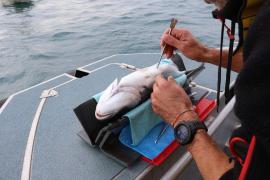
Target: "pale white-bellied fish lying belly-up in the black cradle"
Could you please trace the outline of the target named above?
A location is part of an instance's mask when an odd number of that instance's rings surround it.
[[[178,77],[184,72],[179,71],[175,64],[152,65],[138,69],[133,73],[115,79],[109,87],[103,91],[97,107],[95,116],[99,120],[109,119],[124,109],[131,109],[140,102],[150,97],[155,78],[162,74],[165,78],[169,76]]]

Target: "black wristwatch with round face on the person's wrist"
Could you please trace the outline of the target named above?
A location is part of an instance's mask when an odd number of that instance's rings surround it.
[[[192,142],[198,129],[207,131],[207,127],[199,120],[181,121],[174,128],[174,136],[181,145],[187,145]]]

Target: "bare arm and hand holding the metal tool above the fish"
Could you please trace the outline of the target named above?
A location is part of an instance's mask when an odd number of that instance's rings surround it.
[[[173,29],[171,35],[168,34],[168,30],[165,31],[161,37],[160,45],[164,47],[167,57],[171,57],[173,51],[178,49],[186,57],[199,62],[207,62],[214,65],[219,64],[219,49],[208,48],[201,42],[199,42],[189,31],[185,29]],[[223,50],[222,53],[222,67],[227,67],[228,50]],[[243,66],[242,53],[239,52],[233,56],[232,70],[239,72]]]

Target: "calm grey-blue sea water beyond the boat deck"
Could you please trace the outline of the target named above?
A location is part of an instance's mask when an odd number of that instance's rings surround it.
[[[1,0],[0,0],[1,2]],[[160,52],[172,17],[217,47],[213,6],[203,0],[37,0],[0,5],[0,99],[117,53]]]

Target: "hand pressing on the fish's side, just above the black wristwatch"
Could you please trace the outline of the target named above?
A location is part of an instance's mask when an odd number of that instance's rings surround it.
[[[181,112],[193,109],[185,90],[171,76],[168,80],[162,76],[156,78],[151,101],[153,111],[170,124],[176,124],[174,121]],[[194,120],[197,118],[197,114],[194,111],[189,111],[184,113],[177,121]]]

